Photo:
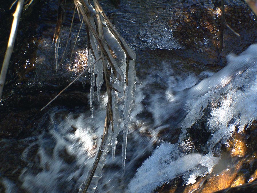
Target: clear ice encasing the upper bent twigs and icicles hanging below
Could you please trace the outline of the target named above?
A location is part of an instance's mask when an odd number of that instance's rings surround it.
[[[107,16],[102,11],[101,5],[94,1],[94,7],[91,6],[89,1],[84,1],[85,5],[82,5],[80,1],[75,1],[75,6],[77,6],[78,11],[83,15],[85,21],[92,25],[89,25],[89,37],[90,37],[90,45],[91,49],[89,50],[89,59],[88,65],[94,62],[99,57],[99,52],[101,53],[101,57],[105,55],[105,60],[109,62],[109,66],[111,67],[112,77],[110,79],[111,86],[119,92],[119,97],[121,98],[124,95],[124,104],[123,104],[123,121],[124,121],[124,130],[123,130],[123,171],[125,170],[125,159],[126,159],[126,146],[127,146],[127,135],[128,135],[128,123],[130,121],[130,114],[133,109],[133,105],[135,102],[135,89],[136,89],[136,72],[135,72],[135,64],[134,60],[136,55],[125,40],[117,33],[115,28],[112,26],[111,22],[107,18]],[[83,4],[84,4],[83,3]],[[85,6],[89,9],[85,9]],[[86,12],[91,12],[90,14],[86,14]],[[100,14],[97,15],[97,19],[101,19],[101,23],[95,23],[96,20],[94,15],[96,13]],[[98,30],[96,29],[96,25]],[[93,29],[92,29],[93,28]],[[102,35],[103,29],[103,35]],[[101,41],[97,37],[98,41],[93,35],[99,32],[99,36],[102,39]],[[104,37],[102,37],[104,36]],[[100,45],[98,45],[100,44]],[[94,57],[93,57],[94,56]],[[107,64],[104,64],[107,65]],[[127,71],[126,71],[127,70]],[[90,106],[91,106],[91,118],[93,118],[93,93],[94,93],[94,86],[95,86],[95,75],[97,75],[97,95],[98,100],[100,100],[100,89],[103,83],[103,63],[101,61],[98,64],[95,64],[90,69],[91,73],[91,88],[90,88]],[[125,80],[126,76],[126,80]],[[126,81],[125,91],[124,91],[124,83]],[[108,85],[108,84],[107,84]],[[113,91],[113,101],[116,102],[116,95]],[[115,156],[115,148],[117,144],[117,135],[119,134],[119,112],[118,112],[118,104],[112,104],[114,118],[113,118],[113,138],[110,141],[112,144],[113,150],[113,159]],[[120,105],[122,106],[122,104]],[[109,147],[108,147],[109,148]],[[107,146],[105,147],[105,150]],[[104,162],[104,161],[103,161]],[[101,168],[101,166],[100,166]],[[98,178],[98,176],[97,176]],[[95,184],[96,185],[96,184]],[[93,185],[92,185],[93,186]]]

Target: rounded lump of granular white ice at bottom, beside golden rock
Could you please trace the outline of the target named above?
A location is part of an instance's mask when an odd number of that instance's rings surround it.
[[[190,160],[190,161],[188,161]],[[209,162],[211,160],[211,162]],[[175,144],[162,143],[157,147],[152,156],[144,161],[137,170],[134,178],[128,184],[128,192],[153,192],[163,183],[181,175],[188,174],[187,184],[194,183],[197,176],[210,172],[219,158],[202,154],[180,155]],[[192,174],[192,170],[204,167],[201,172]]]

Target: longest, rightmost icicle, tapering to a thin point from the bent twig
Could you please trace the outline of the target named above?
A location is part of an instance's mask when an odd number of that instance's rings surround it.
[[[130,122],[130,114],[135,103],[135,90],[136,90],[135,61],[130,60],[129,69],[128,69],[128,86],[126,86],[126,89],[125,89],[124,108],[123,108],[123,121],[124,121],[123,145],[122,145],[123,172],[125,172],[128,123]]]

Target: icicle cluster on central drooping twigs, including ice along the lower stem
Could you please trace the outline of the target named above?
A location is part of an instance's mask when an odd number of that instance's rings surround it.
[[[135,102],[136,89],[136,72],[134,60],[136,54],[127,45],[125,40],[117,33],[111,22],[103,12],[103,9],[94,0],[94,7],[85,0],[74,0],[77,11],[83,17],[84,23],[87,25],[89,43],[88,47],[88,67],[91,74],[90,88],[90,108],[91,118],[93,118],[93,98],[95,84],[97,86],[97,99],[101,100],[101,86],[103,84],[103,71],[105,67],[111,70],[109,83],[111,86],[111,107],[112,107],[112,128],[113,132],[108,132],[105,145],[101,150],[100,161],[98,163],[95,175],[88,188],[89,192],[94,192],[97,186],[99,176],[104,166],[104,162],[112,147],[113,160],[115,159],[115,149],[117,145],[117,136],[120,132],[120,117],[123,114],[123,172],[125,168],[126,146],[128,135],[128,122],[130,114]],[[97,19],[96,19],[97,18]],[[102,32],[102,33],[101,33]],[[100,39],[99,39],[100,38]],[[58,47],[58,45],[56,45]],[[111,54],[111,51],[113,54]],[[104,56],[104,57],[103,57]],[[58,55],[57,55],[58,57]],[[101,59],[99,59],[101,58]],[[94,65],[93,65],[94,64]],[[106,66],[105,66],[106,65]],[[105,71],[106,72],[106,71]],[[126,77],[126,78],[125,78]],[[123,111],[122,111],[123,109]],[[104,126],[103,126],[104,128]],[[102,147],[102,146],[101,146]],[[82,184],[79,191],[83,191],[85,184]]]

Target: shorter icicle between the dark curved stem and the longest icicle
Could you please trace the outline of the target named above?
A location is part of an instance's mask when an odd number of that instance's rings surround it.
[[[113,135],[112,135],[111,145],[112,145],[112,157],[114,161],[116,145],[118,143],[117,136],[120,132],[119,110],[118,110],[118,104],[117,104],[116,94],[114,90],[112,90],[112,107],[113,107]]]

